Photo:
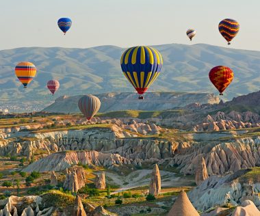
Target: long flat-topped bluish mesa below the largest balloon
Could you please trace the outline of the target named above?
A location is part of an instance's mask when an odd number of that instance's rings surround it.
[[[179,93],[179,92],[149,92],[145,100],[138,100],[135,93],[104,93],[96,94],[101,100],[100,112],[118,110],[166,110],[174,107],[185,107],[190,103],[219,103],[219,98],[206,93]],[[77,103],[81,96],[62,96],[55,103],[43,111],[57,113],[79,113]]]

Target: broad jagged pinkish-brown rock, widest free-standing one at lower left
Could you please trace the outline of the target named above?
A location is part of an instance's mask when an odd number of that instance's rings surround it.
[[[72,167],[68,174],[66,174],[66,179],[64,181],[63,187],[72,192],[77,192],[81,187],[84,187],[86,183],[85,170],[83,167]]]

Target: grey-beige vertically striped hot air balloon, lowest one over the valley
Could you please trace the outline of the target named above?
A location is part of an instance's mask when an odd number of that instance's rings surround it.
[[[97,111],[99,111],[100,105],[99,98],[91,94],[81,97],[78,103],[79,110],[88,120],[91,120]]]

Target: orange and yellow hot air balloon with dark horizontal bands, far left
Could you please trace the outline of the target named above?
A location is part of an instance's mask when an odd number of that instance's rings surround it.
[[[15,67],[16,77],[23,83],[24,87],[27,87],[32,79],[36,75],[36,66],[31,62],[20,62]]]

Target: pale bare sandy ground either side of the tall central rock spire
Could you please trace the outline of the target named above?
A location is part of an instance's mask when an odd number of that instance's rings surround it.
[[[107,171],[105,175],[113,180],[112,182],[107,180],[108,184],[120,185],[120,188],[113,192],[118,193],[127,189],[149,185],[152,172],[153,170],[135,170],[127,176],[120,176],[114,172]],[[179,181],[179,177],[175,177],[174,172],[160,171],[160,174],[162,187],[172,187],[175,185],[174,183]]]

